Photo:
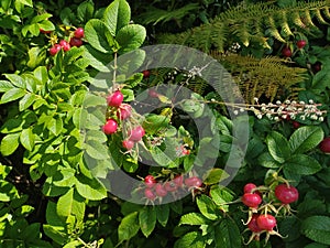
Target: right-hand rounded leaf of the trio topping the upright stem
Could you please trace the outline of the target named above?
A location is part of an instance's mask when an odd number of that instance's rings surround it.
[[[116,41],[120,45],[121,54],[140,47],[146,36],[145,28],[139,24],[125,25],[119,30]]]

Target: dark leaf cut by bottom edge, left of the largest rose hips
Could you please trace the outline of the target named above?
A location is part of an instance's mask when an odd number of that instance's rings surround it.
[[[241,247],[240,229],[234,222],[224,218],[220,225],[216,226],[215,231],[216,247],[233,248]]]

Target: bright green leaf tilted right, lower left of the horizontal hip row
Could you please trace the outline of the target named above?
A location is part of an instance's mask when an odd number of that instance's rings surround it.
[[[140,229],[139,212],[133,212],[121,220],[118,227],[118,239],[124,241],[133,238]]]

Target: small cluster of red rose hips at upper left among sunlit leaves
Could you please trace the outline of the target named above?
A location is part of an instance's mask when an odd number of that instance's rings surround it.
[[[55,56],[62,48],[64,52],[67,52],[72,48],[72,46],[81,46],[84,44],[82,37],[85,36],[84,29],[78,28],[74,31],[73,36],[69,39],[69,42],[66,40],[61,40],[59,43],[54,44],[50,48],[50,54]]]

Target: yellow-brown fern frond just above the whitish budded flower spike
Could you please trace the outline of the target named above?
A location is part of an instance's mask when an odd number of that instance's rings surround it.
[[[274,100],[284,94],[297,94],[293,85],[304,80],[306,69],[290,67],[288,62],[276,56],[254,58],[238,54],[223,55],[212,52],[231,73],[246,103],[253,104],[254,98],[266,97]]]

